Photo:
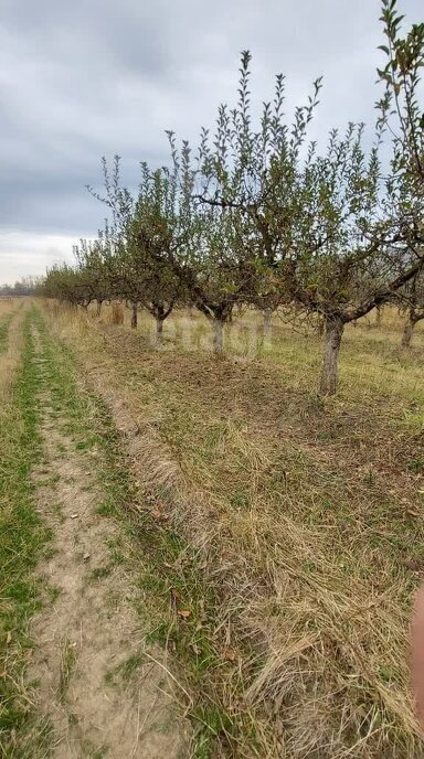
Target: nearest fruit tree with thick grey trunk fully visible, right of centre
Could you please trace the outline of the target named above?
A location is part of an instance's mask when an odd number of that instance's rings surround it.
[[[383,178],[377,147],[367,158],[362,127],[330,136],[311,167],[316,188],[314,255],[300,244],[292,258],[292,293],[325,321],[320,392],[337,386],[344,325],[388,302],[422,266],[416,246],[420,203],[404,174]]]

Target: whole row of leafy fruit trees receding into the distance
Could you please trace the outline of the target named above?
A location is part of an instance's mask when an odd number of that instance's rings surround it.
[[[141,163],[138,193],[120,182],[119,158],[103,161],[110,222],[75,247],[74,266],[52,267],[45,293],[87,308],[123,299],[156,320],[158,334],[178,306],[201,311],[223,350],[223,325],[248,304],[269,320],[278,307],[324,324],[320,392],[336,392],[346,324],[386,302],[424,317],[424,114],[420,103],[424,24],[401,34],[395,0],[383,0],[385,62],[378,70],[372,147],[363,125],[310,140],[317,79],[287,119],[285,79],[255,124],[251,55],[242,54],[236,105],[221,105],[195,147],[168,132],[169,167]],[[405,344],[410,338],[404,339]]]

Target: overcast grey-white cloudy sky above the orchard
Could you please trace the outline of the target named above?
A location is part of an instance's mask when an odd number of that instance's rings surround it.
[[[421,21],[422,0],[399,0]],[[253,98],[287,75],[287,113],[324,74],[324,136],[372,125],[379,0],[0,0],[0,282],[72,257],[103,225],[100,158],[168,160],[165,129],[195,140],[233,101],[240,51]]]

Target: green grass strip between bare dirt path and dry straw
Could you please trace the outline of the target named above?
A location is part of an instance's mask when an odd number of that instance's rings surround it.
[[[81,386],[78,366],[70,349],[53,338],[36,317],[43,355],[46,356],[49,385],[53,399],[65,409],[66,431],[80,451],[94,449],[103,489],[97,513],[114,519],[124,533],[109,543],[110,560],[126,564],[135,579],[134,608],[142,619],[147,644],[159,644],[171,654],[192,694],[189,709],[194,727],[193,756],[213,757],[218,746],[227,756],[239,742],[248,740],[254,750],[255,735],[248,715],[234,715],[211,701],[210,681],[215,671],[234,669],[215,650],[213,631],[216,601],[204,579],[198,552],[172,526],[159,523],[146,507],[138,482],[128,470],[125,441],[117,431],[105,403]],[[104,575],[100,567],[92,580]],[[181,612],[189,612],[183,616]],[[136,663],[132,667],[134,662]],[[121,675],[128,677],[141,664],[131,659]],[[109,673],[110,681],[114,673]]]

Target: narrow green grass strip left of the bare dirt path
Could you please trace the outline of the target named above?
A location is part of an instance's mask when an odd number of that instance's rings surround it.
[[[22,356],[11,380],[8,373],[0,408],[0,753],[8,759],[45,756],[49,733],[46,724],[32,721],[31,688],[24,682],[32,649],[29,623],[42,590],[34,569],[49,541],[34,510],[31,480],[41,457],[31,321],[26,314]],[[21,336],[14,331],[11,339]]]

